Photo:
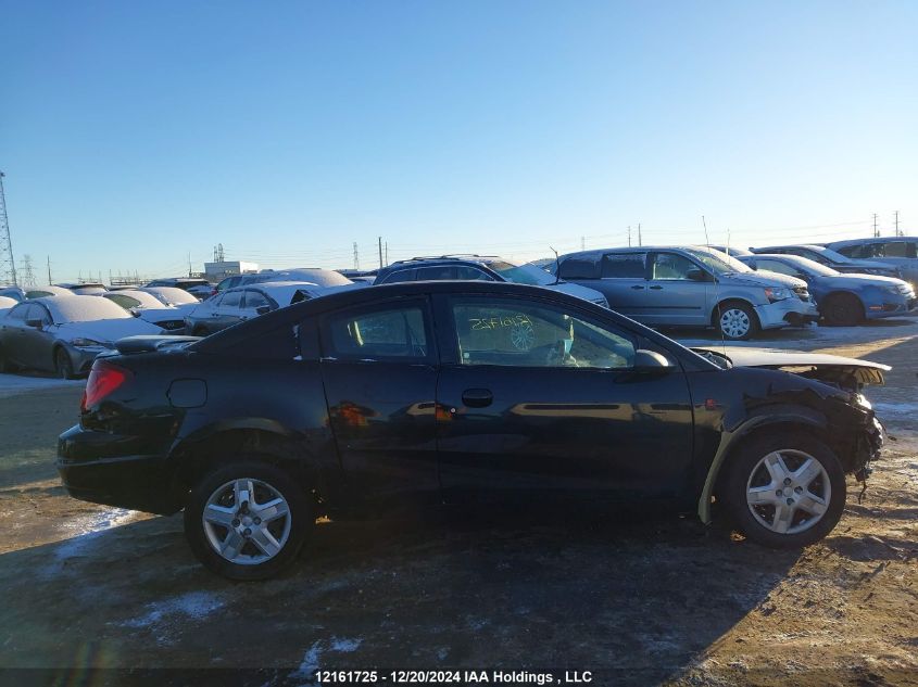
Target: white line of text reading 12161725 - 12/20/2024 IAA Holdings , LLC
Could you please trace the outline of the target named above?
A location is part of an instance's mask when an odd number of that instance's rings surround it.
[[[314,674],[319,685],[369,685],[392,683],[401,685],[583,685],[593,682],[591,671],[559,671],[533,673],[529,671],[463,670],[463,671],[334,671]]]

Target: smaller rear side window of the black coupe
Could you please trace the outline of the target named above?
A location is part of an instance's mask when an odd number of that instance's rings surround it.
[[[361,308],[323,321],[323,349],[327,357],[344,360],[419,361],[429,355],[430,331],[420,303]]]

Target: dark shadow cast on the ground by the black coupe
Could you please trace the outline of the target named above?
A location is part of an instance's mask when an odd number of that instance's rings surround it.
[[[234,584],[191,559],[178,517],[159,518],[0,556],[0,646],[17,666],[271,666],[280,683],[368,665],[656,682],[796,558],[667,513],[437,510],[318,525],[286,576]]]

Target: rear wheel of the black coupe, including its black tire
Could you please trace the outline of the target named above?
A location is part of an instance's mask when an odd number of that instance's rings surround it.
[[[239,459],[205,474],[185,508],[185,536],[208,569],[265,580],[290,565],[315,524],[310,499],[269,463]]]

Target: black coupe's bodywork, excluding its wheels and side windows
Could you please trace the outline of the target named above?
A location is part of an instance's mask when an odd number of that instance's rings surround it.
[[[625,332],[661,369],[462,365],[451,298],[521,298]],[[413,304],[408,360],[329,351],[328,318]],[[227,456],[269,458],[332,517],[464,499],[661,497],[699,508],[745,437],[819,436],[845,472],[880,444],[851,390],[783,371],[721,369],[628,318],[544,289],[411,282],[341,292],[203,340],[125,340],[97,360],[128,383],[59,441],[76,498],[168,514]],[[713,469],[714,468],[714,469]]]

